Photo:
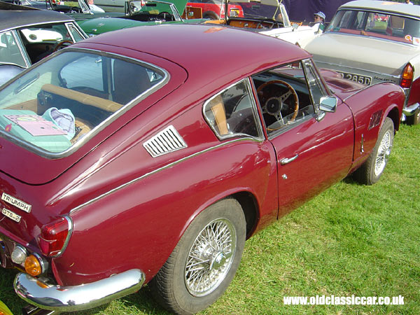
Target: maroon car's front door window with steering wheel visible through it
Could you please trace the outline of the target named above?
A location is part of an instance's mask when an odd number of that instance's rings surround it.
[[[252,77],[268,134],[314,113],[301,62],[286,64]]]

